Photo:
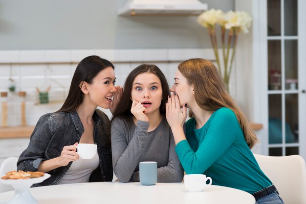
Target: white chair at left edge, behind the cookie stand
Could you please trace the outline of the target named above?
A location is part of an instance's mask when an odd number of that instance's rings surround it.
[[[16,171],[17,161],[18,161],[17,157],[6,158],[0,166],[0,177],[2,177],[8,171]],[[10,190],[14,190],[13,186],[0,183],[0,193]]]

